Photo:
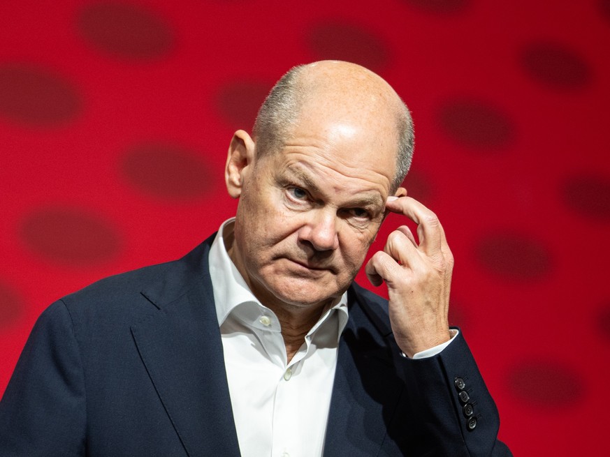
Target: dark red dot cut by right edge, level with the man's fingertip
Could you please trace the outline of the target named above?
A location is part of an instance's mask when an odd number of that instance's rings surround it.
[[[610,179],[580,175],[565,180],[562,199],[572,211],[586,218],[610,220]]]

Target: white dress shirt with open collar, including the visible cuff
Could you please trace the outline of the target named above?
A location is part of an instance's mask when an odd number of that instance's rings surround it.
[[[288,362],[279,320],[254,297],[226,252],[223,235],[233,231],[233,220],[220,226],[209,262],[242,457],[321,456],[347,293]],[[430,357],[450,342],[414,357]]]

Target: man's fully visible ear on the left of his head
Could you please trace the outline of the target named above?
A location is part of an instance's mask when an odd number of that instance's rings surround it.
[[[239,198],[242,193],[248,167],[254,164],[254,150],[254,140],[244,130],[233,134],[224,167],[226,190],[233,198]]]

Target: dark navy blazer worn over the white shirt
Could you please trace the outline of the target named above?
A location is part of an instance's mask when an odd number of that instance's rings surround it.
[[[0,402],[0,456],[240,455],[208,273],[212,239],[43,312]],[[510,455],[498,426],[461,335],[442,354],[406,359],[386,301],[351,285],[325,456]]]

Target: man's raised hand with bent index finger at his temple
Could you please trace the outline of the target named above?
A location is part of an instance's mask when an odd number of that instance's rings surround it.
[[[388,286],[390,322],[398,346],[408,357],[451,338],[447,313],[453,255],[435,213],[411,197],[388,197],[386,210],[417,224],[415,240],[401,225],[365,271],[373,285]]]

